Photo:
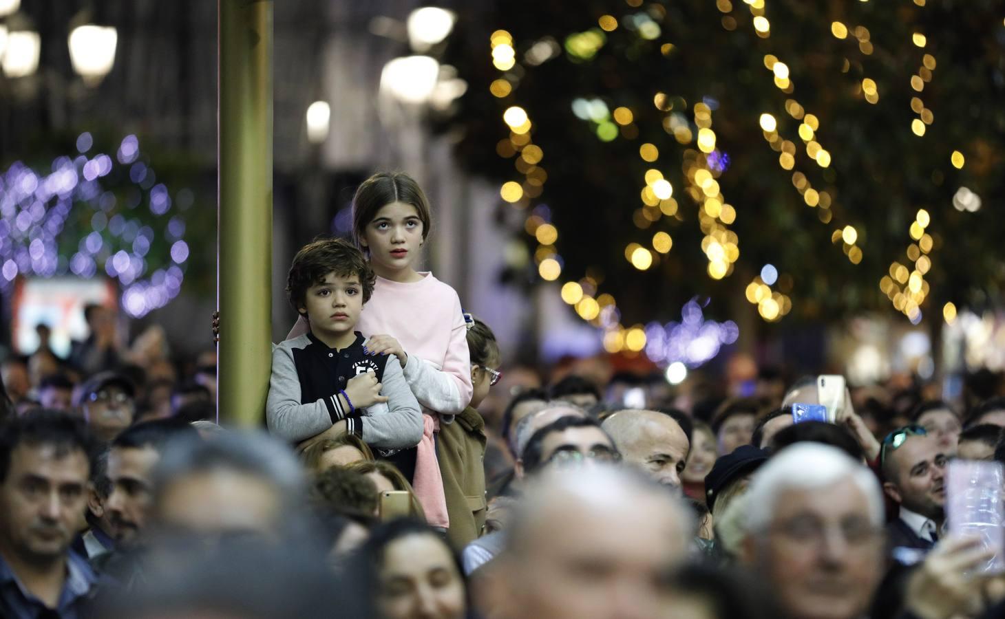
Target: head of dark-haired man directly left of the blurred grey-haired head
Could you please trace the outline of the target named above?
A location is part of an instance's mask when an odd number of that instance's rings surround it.
[[[195,435],[178,419],[158,419],[130,427],[116,436],[109,449],[112,494],[109,511],[115,538],[132,543],[146,527],[153,503],[153,471],[167,444]]]

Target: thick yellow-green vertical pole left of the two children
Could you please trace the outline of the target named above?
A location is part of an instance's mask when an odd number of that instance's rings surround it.
[[[272,1],[218,2],[217,405],[253,427],[271,362]]]

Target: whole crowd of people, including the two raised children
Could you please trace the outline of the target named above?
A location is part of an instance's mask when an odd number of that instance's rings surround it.
[[[946,523],[948,462],[1005,462],[1000,377],[799,421],[816,377],[504,376],[507,343],[416,269],[430,227],[379,174],[353,242],[296,254],[258,431],[216,423],[211,352],[126,348],[88,305],[60,359],[40,326],[2,365],[0,616],[1005,617],[1005,549]]]

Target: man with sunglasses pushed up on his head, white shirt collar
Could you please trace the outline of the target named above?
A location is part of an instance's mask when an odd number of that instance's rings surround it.
[[[948,456],[921,426],[906,426],[883,438],[879,464],[883,491],[899,505],[887,526],[890,546],[929,550],[945,520]]]

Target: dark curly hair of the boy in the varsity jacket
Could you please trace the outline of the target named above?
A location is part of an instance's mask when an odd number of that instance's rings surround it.
[[[357,275],[363,287],[363,302],[370,300],[377,275],[363,252],[341,238],[319,238],[296,252],[286,276],[286,295],[297,314],[306,303],[308,288],[321,283],[332,271],[340,277]]]

